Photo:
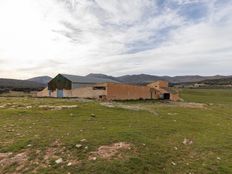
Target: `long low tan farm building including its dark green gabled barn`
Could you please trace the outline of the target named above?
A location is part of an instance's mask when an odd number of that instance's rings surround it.
[[[122,84],[112,79],[58,74],[38,97],[76,97],[102,100],[169,99],[178,100],[168,82],[157,81],[146,86]]]

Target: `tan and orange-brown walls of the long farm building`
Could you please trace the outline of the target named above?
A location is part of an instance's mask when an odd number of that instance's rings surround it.
[[[63,90],[64,97],[78,97],[78,98],[95,98],[99,99],[99,96],[106,96],[107,100],[138,100],[138,99],[159,99],[163,93],[170,93],[165,89],[159,88],[154,85],[156,83],[149,84],[148,86],[136,86],[117,83],[104,83],[97,84],[95,86],[104,86],[106,90],[93,90],[93,87],[76,88],[73,90]],[[167,86],[167,83],[159,81],[159,85]],[[52,91],[49,96],[48,88],[37,93],[37,97],[57,97],[57,90]],[[179,93],[170,93],[170,100],[180,100]]]

